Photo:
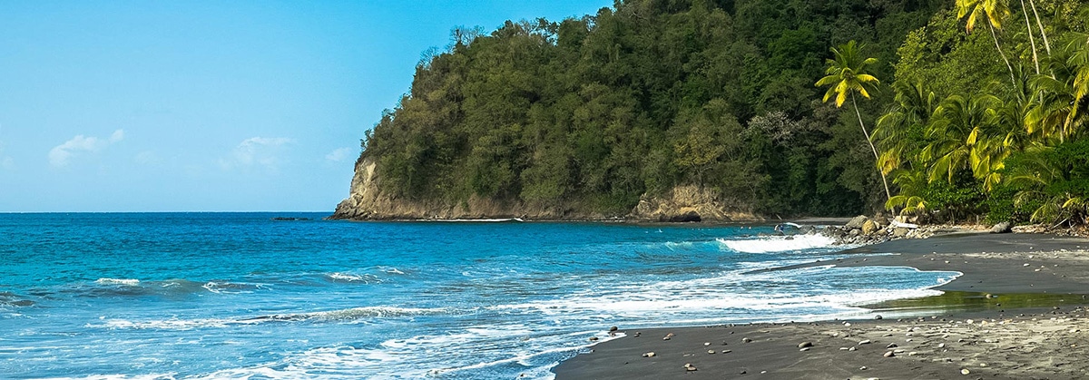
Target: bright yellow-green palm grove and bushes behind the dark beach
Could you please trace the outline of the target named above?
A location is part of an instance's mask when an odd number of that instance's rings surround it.
[[[1029,5],[957,0],[955,15],[939,12],[908,35],[894,101],[874,131],[885,152],[879,167],[898,185],[886,208],[939,219],[1087,222],[1089,4]],[[1024,24],[1003,23],[1012,16]],[[956,33],[962,19],[969,32],[986,21],[992,38]],[[1002,51],[1012,62],[999,65]]]

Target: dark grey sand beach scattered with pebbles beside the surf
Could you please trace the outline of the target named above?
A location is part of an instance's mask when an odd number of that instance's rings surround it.
[[[1089,378],[1089,240],[954,233],[898,240],[834,265],[959,271],[934,297],[867,305],[866,319],[666,329],[624,338],[554,369],[565,379]]]

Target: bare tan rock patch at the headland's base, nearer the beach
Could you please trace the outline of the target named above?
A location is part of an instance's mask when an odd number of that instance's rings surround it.
[[[683,185],[661,196],[644,195],[628,219],[658,222],[763,220],[709,188]]]

